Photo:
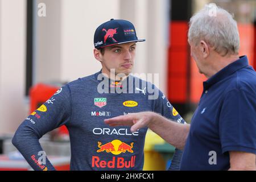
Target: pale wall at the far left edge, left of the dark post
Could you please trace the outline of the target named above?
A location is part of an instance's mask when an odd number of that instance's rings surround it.
[[[0,134],[26,117],[26,1],[0,0]]]

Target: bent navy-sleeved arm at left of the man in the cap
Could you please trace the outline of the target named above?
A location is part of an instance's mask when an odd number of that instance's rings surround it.
[[[48,131],[67,124],[71,117],[70,90],[63,86],[59,91],[22,122],[12,140],[34,170],[55,170],[39,139]]]

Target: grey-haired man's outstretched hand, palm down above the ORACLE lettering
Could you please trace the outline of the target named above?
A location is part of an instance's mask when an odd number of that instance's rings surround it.
[[[105,119],[104,122],[109,126],[131,126],[131,132],[133,133],[138,129],[148,127],[154,116],[155,113],[152,112],[132,113]]]

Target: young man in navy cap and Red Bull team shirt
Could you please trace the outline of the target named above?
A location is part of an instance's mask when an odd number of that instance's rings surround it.
[[[94,57],[101,71],[64,85],[24,119],[13,137],[14,146],[33,169],[55,170],[48,158],[40,163],[39,139],[62,125],[69,131],[71,170],[130,171],[143,169],[147,127],[131,133],[129,127],[113,128],[104,119],[154,111],[184,123],[156,86],[130,75],[137,42],[143,41],[127,20],[111,19],[96,29]],[[170,169],[179,169],[181,154],[176,150]]]

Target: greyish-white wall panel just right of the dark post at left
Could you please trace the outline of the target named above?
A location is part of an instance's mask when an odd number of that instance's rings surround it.
[[[34,82],[60,80],[62,0],[36,0]],[[38,4],[46,4],[46,16],[38,16]]]

